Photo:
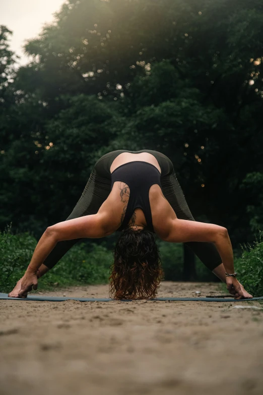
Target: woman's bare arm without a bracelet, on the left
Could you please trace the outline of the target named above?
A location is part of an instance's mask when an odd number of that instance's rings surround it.
[[[108,223],[108,215],[103,212],[69,219],[48,227],[35,248],[23,276],[18,297],[24,297],[32,288],[37,289],[37,270],[59,241],[105,237],[111,233],[108,231]]]

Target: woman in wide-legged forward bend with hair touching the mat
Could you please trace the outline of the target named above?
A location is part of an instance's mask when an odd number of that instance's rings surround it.
[[[226,228],[197,222],[178,184],[171,160],[152,150],[103,155],[67,220],[46,229],[21,280],[9,294],[27,297],[37,279],[82,238],[120,232],[114,248],[110,293],[115,299],[152,298],[162,269],[155,235],[185,243],[227,284],[235,299],[252,298],[234,273]]]

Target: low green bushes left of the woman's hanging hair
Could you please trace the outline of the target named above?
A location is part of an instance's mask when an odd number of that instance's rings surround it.
[[[10,292],[30,263],[37,240],[28,233],[0,233],[0,292]],[[40,289],[108,282],[112,252],[95,243],[75,245],[39,281]]]

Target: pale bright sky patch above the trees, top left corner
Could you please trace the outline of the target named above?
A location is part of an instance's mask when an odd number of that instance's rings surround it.
[[[53,13],[60,9],[66,0],[0,0],[0,25],[13,31],[10,49],[21,57],[20,65],[28,63],[22,45],[27,39],[35,38],[43,25],[53,20]]]

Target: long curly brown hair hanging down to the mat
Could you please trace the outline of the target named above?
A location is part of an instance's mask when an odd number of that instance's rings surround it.
[[[113,250],[110,296],[114,299],[154,298],[163,279],[160,251],[148,230],[124,229]]]

